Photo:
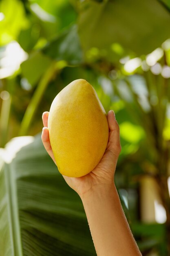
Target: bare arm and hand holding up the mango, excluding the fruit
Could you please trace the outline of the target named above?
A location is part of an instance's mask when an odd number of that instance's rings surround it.
[[[48,115],[49,112],[44,112],[42,115],[44,124],[42,142],[55,162],[47,127]],[[121,145],[119,125],[113,110],[108,112],[107,119],[108,144],[99,164],[83,177],[62,176],[82,200],[97,256],[141,256],[121,207],[114,182]]]

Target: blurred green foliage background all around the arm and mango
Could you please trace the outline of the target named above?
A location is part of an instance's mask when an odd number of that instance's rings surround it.
[[[0,256],[96,255],[40,139],[80,78],[119,123],[115,183],[142,255],[170,255],[169,27],[168,0],[0,1]]]

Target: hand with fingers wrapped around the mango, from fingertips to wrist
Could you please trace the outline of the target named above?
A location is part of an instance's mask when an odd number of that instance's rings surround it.
[[[47,153],[51,156],[55,162],[53,150],[51,148],[49,140],[48,130],[48,116],[49,112],[44,112],[42,120],[44,128],[42,130],[42,142]],[[74,189],[81,197],[87,191],[93,190],[96,186],[112,186],[114,184],[114,174],[117,164],[117,159],[121,151],[119,125],[115,119],[113,110],[110,110],[107,115],[109,126],[109,138],[105,153],[97,166],[83,177],[64,177],[66,183]],[[56,164],[56,162],[55,162]]]

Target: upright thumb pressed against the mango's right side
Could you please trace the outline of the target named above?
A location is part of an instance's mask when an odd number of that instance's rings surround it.
[[[107,119],[109,126],[109,137],[106,150],[118,157],[121,152],[120,132],[113,110],[108,112]]]

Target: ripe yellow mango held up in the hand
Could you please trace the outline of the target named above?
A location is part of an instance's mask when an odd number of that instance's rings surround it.
[[[49,111],[48,128],[62,175],[82,177],[102,159],[108,143],[107,116],[86,80],[77,79],[57,94]]]

